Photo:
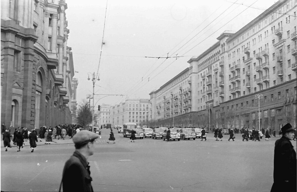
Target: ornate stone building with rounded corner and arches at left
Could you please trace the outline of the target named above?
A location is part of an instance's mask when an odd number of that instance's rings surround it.
[[[63,0],[1,1],[1,123],[71,123],[74,76]]]

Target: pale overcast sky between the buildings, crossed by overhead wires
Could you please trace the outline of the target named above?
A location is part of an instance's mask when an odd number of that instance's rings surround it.
[[[105,44],[95,94],[127,96],[95,96],[96,106],[119,104],[126,97],[149,99],[151,91],[189,67],[187,61],[216,43],[222,32],[236,32],[275,3],[255,1],[66,1],[70,30],[67,46],[72,47],[74,69],[78,71],[74,76],[78,78],[77,102],[92,94],[92,82],[87,78],[88,73],[97,74],[106,4]],[[171,57],[184,57],[146,58],[166,57],[168,52]]]

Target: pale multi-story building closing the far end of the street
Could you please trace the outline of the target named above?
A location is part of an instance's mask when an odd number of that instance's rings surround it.
[[[112,125],[123,125],[135,122],[137,125],[147,125],[149,120],[149,99],[126,99],[124,103],[110,108]]]

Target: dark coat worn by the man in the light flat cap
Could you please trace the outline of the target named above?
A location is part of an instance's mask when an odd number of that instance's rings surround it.
[[[63,191],[93,191],[90,166],[86,158],[75,151],[64,165]]]

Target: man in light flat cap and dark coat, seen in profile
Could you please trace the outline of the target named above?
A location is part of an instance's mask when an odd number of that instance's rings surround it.
[[[61,185],[63,191],[93,191],[88,157],[93,155],[99,135],[88,130],[76,133],[72,140],[75,151],[64,165]],[[59,191],[61,191],[61,185]]]

